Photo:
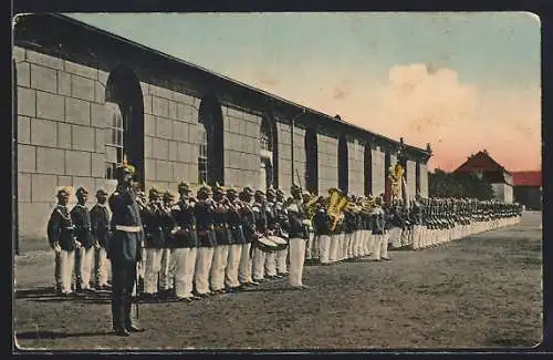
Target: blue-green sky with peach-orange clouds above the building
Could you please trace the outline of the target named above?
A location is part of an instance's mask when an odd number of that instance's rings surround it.
[[[452,171],[541,168],[540,20],[525,12],[72,13],[369,131]]]

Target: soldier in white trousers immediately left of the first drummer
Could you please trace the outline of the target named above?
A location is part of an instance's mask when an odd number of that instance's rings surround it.
[[[238,268],[238,279],[241,286],[257,286],[259,282],[254,282],[252,279],[252,257],[251,257],[251,244],[257,237],[255,232],[255,213],[251,206],[251,200],[253,197],[253,191],[250,187],[244,187],[240,194],[239,198],[242,206],[240,207],[240,218],[242,220],[242,234],[244,236],[244,243],[242,244],[240,254],[240,266]]]

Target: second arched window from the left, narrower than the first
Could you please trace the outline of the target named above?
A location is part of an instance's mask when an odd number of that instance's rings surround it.
[[[198,112],[198,181],[225,185],[225,148],[221,105],[213,96],[201,100]]]

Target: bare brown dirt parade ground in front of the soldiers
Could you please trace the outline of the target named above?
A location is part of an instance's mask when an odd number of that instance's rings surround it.
[[[284,280],[184,302],[140,304],[146,332],[111,335],[108,295],[52,294],[53,256],[15,259],[22,349],[413,349],[533,347],[542,339],[541,214],[392,261],[307,266]]]

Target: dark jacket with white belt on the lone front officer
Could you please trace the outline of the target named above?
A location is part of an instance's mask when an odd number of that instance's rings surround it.
[[[139,261],[140,244],[144,241],[144,230],[127,233],[116,230],[116,225],[143,227],[134,188],[118,188],[108,198],[112,210],[111,229],[113,237],[108,241],[107,254],[112,263]]]

